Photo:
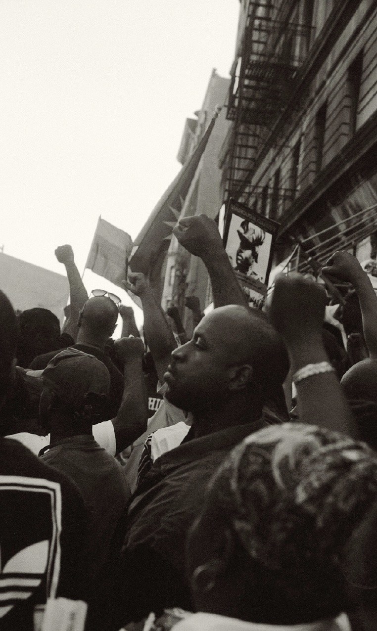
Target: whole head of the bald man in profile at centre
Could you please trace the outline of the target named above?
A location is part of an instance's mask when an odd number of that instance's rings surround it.
[[[189,411],[221,406],[240,392],[265,404],[288,369],[285,346],[265,314],[227,305],[206,315],[193,339],[173,351],[167,398]]]

